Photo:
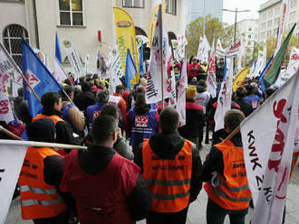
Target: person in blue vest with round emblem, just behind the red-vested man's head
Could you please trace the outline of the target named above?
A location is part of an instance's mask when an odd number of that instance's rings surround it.
[[[100,116],[101,107],[104,107],[109,99],[109,91],[100,90],[97,93],[97,103],[86,108],[86,126],[88,130],[92,130],[92,122],[96,117]]]

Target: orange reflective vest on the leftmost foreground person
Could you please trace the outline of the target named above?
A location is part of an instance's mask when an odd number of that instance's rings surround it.
[[[52,148],[28,147],[19,177],[22,219],[51,218],[67,206],[55,186],[43,179],[43,159],[57,155]]]

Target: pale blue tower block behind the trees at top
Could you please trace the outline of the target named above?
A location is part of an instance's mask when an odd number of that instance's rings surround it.
[[[186,4],[186,25],[204,14],[211,14],[222,22],[223,0],[188,0]]]

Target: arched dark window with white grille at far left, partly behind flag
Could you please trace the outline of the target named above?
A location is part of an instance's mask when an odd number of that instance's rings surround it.
[[[15,63],[21,68],[22,67],[22,39],[29,42],[28,32],[26,29],[18,24],[11,24],[5,27],[3,33],[3,43],[5,49],[10,53]]]

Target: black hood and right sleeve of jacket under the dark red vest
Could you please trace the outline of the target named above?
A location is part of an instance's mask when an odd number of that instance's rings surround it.
[[[85,173],[101,173],[111,162],[116,151],[113,148],[90,145],[88,150],[79,152],[79,163]],[[135,220],[148,216],[151,207],[151,196],[141,174],[139,174],[135,189],[131,192],[130,211]]]

